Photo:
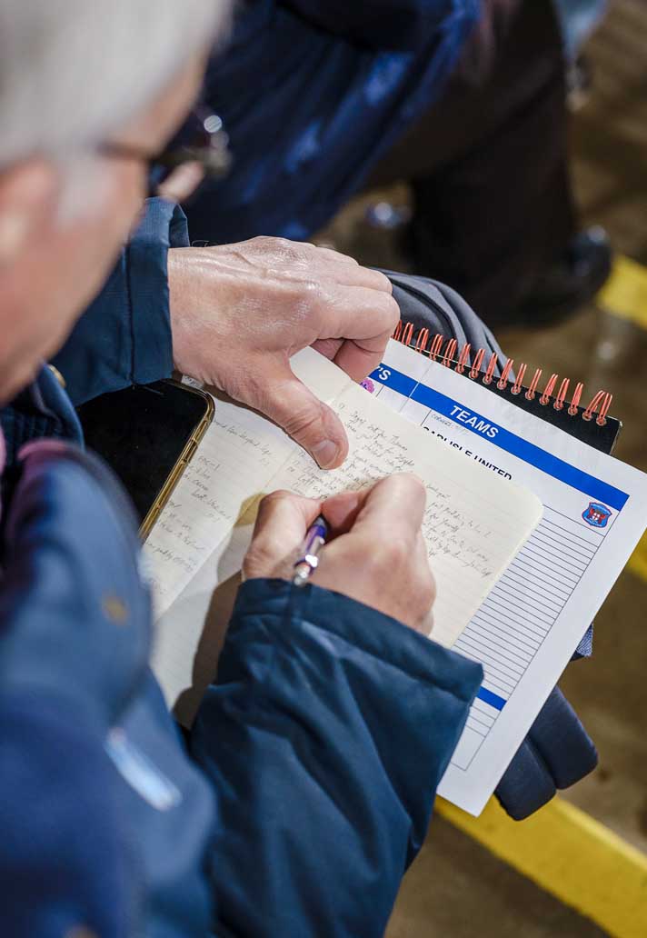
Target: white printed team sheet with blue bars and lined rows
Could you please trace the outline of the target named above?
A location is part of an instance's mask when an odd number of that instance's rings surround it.
[[[544,505],[454,644],[485,680],[439,794],[479,814],[645,529],[647,476],[394,341],[365,386]]]

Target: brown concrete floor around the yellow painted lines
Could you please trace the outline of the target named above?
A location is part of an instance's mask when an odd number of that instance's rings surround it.
[[[573,173],[586,223],[601,223],[614,248],[647,265],[647,5],[612,0],[589,45],[594,91],[575,115]],[[393,236],[365,221],[367,205],[407,204],[406,186],[355,200],[323,241],[366,264],[406,269]],[[604,387],[624,420],[616,455],[647,470],[644,427],[647,333],[594,306],[542,332],[509,330],[505,352]],[[600,766],[564,796],[647,853],[647,582],[625,571],[595,624],[594,657],[571,665],[562,688],[594,737]],[[389,938],[593,938],[603,932],[494,859],[446,822],[408,874]]]

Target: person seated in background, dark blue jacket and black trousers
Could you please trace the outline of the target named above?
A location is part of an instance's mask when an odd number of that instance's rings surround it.
[[[308,240],[350,196],[409,180],[413,269],[490,325],[542,325],[609,276],[578,232],[554,0],[248,0],[203,88],[232,173],[191,237]]]

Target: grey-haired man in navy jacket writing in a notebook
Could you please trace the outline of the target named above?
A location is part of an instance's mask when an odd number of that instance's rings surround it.
[[[192,759],[148,669],[128,498],[83,451],[72,400],[41,362],[115,258],[108,298],[148,265],[157,298],[132,282],[125,308],[84,317],[69,346],[72,396],[158,377],[172,356],[200,376],[211,348],[230,366],[224,386],[240,391],[256,368],[266,412],[332,465],[343,430],[296,384],[288,353],[316,344],[359,377],[397,314],[383,275],[304,249],[303,276],[270,284],[274,306],[248,304],[246,344],[228,304],[221,320],[166,318],[165,251],[186,237],[173,204],[149,204],[123,248],[227,7],[0,0],[0,895],[11,938],[382,934],[482,676],[417,632],[434,590],[419,550],[425,495],[408,476],[325,505],[285,492],[263,502]],[[169,331],[172,353],[156,340]],[[322,510],[334,539],[295,595],[272,545],[292,552]],[[392,548],[375,551],[384,531]]]

